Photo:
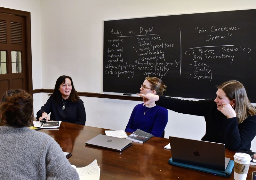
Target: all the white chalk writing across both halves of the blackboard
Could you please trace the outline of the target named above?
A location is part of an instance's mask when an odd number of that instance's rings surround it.
[[[174,43],[162,41],[161,35],[154,34],[154,27],[149,27],[147,29],[143,27],[139,27],[138,31],[131,30],[125,34],[132,34],[127,36],[122,36],[122,31],[119,30],[111,30],[109,35],[119,35],[119,36],[109,36],[107,39],[107,43],[112,42],[109,45],[107,50],[107,64],[105,65],[105,74],[116,75],[118,77],[127,76],[127,78],[134,77],[134,69],[136,69],[137,73],[143,74],[144,76],[157,76],[160,79],[170,71],[170,66],[174,66],[174,68],[178,68],[181,66],[182,59],[175,59],[170,61],[169,58],[165,58],[164,51],[172,51],[171,48],[174,47]],[[210,40],[218,40],[218,39],[226,39],[230,37],[232,33],[229,31],[237,31],[241,29],[240,27],[219,27],[215,28],[215,26],[211,26],[207,30],[207,28],[195,27],[195,30],[200,33],[205,33],[205,41]],[[218,32],[226,32],[227,35],[219,35],[214,34]],[[137,35],[135,32],[138,32]],[[143,36],[143,37],[141,37]],[[117,39],[118,41],[113,41],[113,38],[121,38]],[[128,58],[128,60],[124,60],[122,58],[122,54],[124,53],[124,44],[126,41],[131,41],[131,37],[133,38],[132,48],[133,51],[137,53],[137,56],[132,57],[133,61]],[[180,45],[182,46],[182,34],[180,34]],[[111,40],[112,39],[112,40]],[[118,42],[118,43],[116,43]],[[131,44],[131,43],[129,43]],[[185,51],[186,56],[191,56],[189,59],[193,60],[191,65],[191,73],[190,75],[193,78],[199,79],[209,79],[212,80],[212,69],[209,63],[201,63],[206,60],[214,60],[214,59],[226,59],[230,60],[230,63],[233,63],[234,56],[233,52],[247,52],[250,53],[250,46],[248,47],[234,47],[234,45],[218,45],[218,46],[203,46],[203,47],[193,47],[189,48],[189,50]],[[181,52],[182,54],[182,52]],[[139,71],[138,71],[139,70]],[[180,74],[182,69],[180,68]]]

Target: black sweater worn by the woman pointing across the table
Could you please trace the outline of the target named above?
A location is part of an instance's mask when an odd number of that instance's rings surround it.
[[[214,100],[189,101],[159,96],[156,104],[175,112],[204,116],[205,135],[201,140],[223,143],[229,150],[250,151],[252,139],[256,135],[256,115],[249,116],[243,123],[237,117],[228,118],[218,109]]]

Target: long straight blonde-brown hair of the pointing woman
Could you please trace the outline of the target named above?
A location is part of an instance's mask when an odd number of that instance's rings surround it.
[[[256,109],[249,101],[245,88],[242,83],[236,80],[230,80],[217,86],[222,89],[229,100],[235,99],[234,109],[238,119],[238,124],[243,123],[248,116],[256,115]]]

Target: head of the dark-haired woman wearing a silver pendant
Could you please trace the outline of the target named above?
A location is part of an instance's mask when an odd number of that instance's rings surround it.
[[[70,99],[72,102],[77,102],[79,99],[73,80],[71,77],[65,75],[57,79],[53,93],[49,95],[54,97],[56,103],[61,102],[61,98]]]

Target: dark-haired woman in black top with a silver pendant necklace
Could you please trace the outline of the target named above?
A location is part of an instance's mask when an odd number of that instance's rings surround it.
[[[50,119],[53,121],[85,125],[84,102],[79,98],[69,76],[60,76],[49,96],[44,106],[36,113],[36,119],[48,120],[48,114],[51,113]]]

